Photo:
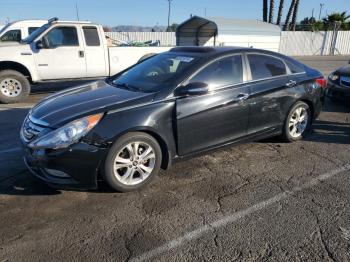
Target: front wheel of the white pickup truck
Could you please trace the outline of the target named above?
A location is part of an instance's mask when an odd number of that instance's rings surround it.
[[[28,79],[15,70],[0,71],[0,102],[17,103],[28,97],[30,83]]]

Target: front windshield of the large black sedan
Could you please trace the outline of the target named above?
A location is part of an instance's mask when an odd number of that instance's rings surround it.
[[[142,92],[156,92],[171,84],[197,59],[176,53],[156,55],[112,79],[112,84]]]

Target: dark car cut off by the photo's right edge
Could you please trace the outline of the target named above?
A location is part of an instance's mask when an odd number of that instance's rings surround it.
[[[327,96],[331,99],[350,99],[350,65],[329,75]]]

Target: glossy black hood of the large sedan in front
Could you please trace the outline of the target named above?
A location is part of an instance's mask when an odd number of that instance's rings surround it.
[[[55,128],[85,115],[122,110],[153,98],[153,93],[121,89],[100,80],[53,94],[33,107],[30,114]]]

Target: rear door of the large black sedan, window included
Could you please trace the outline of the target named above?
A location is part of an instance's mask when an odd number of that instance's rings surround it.
[[[246,54],[250,80],[250,120],[248,134],[268,132],[283,124],[283,106],[293,99],[291,78],[284,61],[278,57]]]

